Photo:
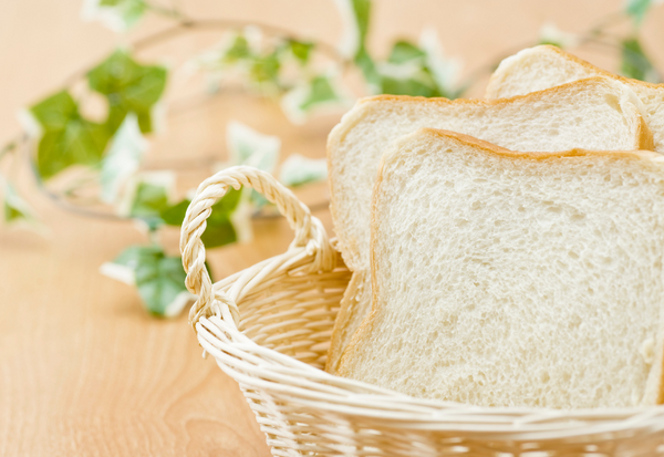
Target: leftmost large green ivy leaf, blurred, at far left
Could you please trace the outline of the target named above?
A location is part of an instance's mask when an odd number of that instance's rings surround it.
[[[71,165],[97,165],[108,143],[103,125],[85,120],[68,91],[59,92],[30,108],[43,127],[37,152],[42,178],[55,176]]]

